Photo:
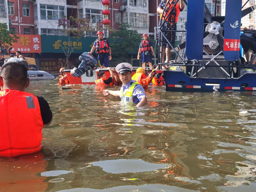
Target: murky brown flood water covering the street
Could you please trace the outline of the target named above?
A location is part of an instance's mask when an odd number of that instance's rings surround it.
[[[0,191],[255,190],[256,92],[149,86],[148,104],[134,108],[102,87],[57,83],[26,89],[48,101],[53,121],[43,129],[43,155],[0,158]]]

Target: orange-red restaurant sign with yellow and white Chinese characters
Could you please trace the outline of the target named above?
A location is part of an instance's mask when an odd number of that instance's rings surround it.
[[[41,36],[40,35],[21,35],[16,34],[19,39],[17,43],[12,44],[12,53],[20,51],[22,53],[41,53]]]

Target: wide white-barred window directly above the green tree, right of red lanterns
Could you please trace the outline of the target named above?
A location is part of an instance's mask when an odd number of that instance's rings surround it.
[[[131,27],[145,27],[149,28],[149,16],[148,13],[129,12],[130,14],[130,26]]]

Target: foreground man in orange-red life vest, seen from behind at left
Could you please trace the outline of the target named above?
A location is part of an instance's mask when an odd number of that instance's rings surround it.
[[[18,156],[40,151],[42,129],[52,122],[52,111],[43,97],[25,92],[29,85],[26,66],[6,62],[0,76],[0,156]]]

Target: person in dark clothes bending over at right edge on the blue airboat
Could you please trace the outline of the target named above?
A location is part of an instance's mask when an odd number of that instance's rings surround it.
[[[247,63],[250,61],[250,49],[253,53],[256,53],[256,31],[244,31],[240,36],[240,44],[244,49],[244,55]],[[246,63],[246,64],[247,64]]]

